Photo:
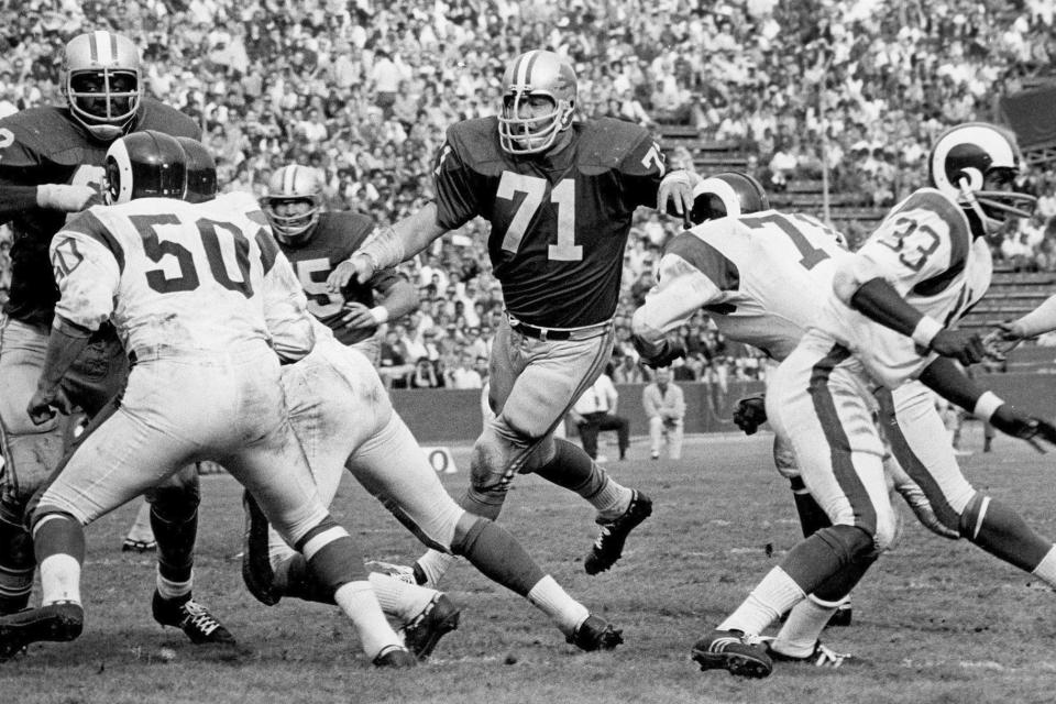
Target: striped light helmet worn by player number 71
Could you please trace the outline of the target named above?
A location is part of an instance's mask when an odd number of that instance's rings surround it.
[[[546,152],[572,124],[575,72],[553,52],[535,50],[515,58],[503,75],[502,91],[498,143],[509,154]],[[549,112],[536,113],[540,100]]]

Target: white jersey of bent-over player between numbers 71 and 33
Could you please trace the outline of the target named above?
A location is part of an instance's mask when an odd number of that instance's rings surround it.
[[[810,216],[767,210],[705,222],[668,245],[635,332],[656,342],[703,307],[727,339],[783,360],[845,256],[842,238]]]

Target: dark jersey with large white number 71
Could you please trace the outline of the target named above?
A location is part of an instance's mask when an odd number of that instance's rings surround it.
[[[449,230],[491,222],[487,249],[506,308],[524,322],[576,328],[613,317],[631,213],[656,207],[660,147],[630,122],[572,125],[557,155],[517,157],[496,118],[448,130],[437,154],[437,219]]]

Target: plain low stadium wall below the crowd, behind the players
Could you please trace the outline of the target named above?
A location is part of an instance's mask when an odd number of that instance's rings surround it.
[[[1044,418],[1056,418],[1056,375],[980,374],[977,381],[1002,398],[1014,399],[1018,408]],[[761,382],[730,382],[726,393],[716,384],[681,383],[685,395],[686,432],[730,432],[737,399],[762,393]],[[630,433],[648,433],[641,407],[645,384],[618,384],[619,415],[630,421]],[[481,430],[481,393],[475,389],[422,389],[392,392],[399,415],[424,444],[472,441]],[[570,430],[572,430],[570,428]]]

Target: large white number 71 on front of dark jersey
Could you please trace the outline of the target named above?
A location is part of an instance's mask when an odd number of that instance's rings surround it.
[[[503,172],[498,182],[496,196],[505,200],[515,201],[517,194],[524,194],[524,199],[514,219],[509,221],[506,237],[503,238],[503,249],[516,253],[520,241],[525,239],[531,219],[542,204],[547,193],[547,179],[538,176],[526,176],[513,172]],[[575,243],[575,180],[565,178],[550,189],[550,202],[557,206],[558,213],[558,243],[547,248],[547,258],[551,262],[579,262],[583,258],[583,246]]]

